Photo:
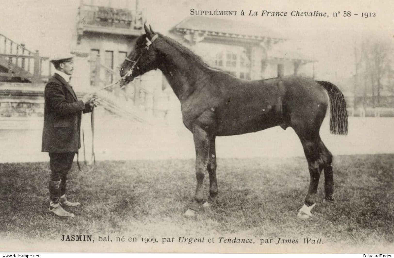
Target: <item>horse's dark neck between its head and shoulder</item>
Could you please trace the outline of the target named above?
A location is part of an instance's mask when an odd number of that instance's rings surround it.
[[[180,52],[172,48],[171,54],[165,51],[164,62],[160,70],[163,72],[175,95],[182,102],[198,87],[205,77],[202,65],[186,59]]]

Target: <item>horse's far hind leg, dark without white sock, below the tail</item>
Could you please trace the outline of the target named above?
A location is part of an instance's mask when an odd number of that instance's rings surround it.
[[[334,179],[333,179],[333,154],[325,147],[322,139],[319,139],[320,157],[324,169],[325,200],[334,202]]]

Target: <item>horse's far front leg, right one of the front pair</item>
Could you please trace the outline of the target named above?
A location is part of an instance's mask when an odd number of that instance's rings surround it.
[[[217,195],[217,179],[216,179],[216,147],[215,137],[212,138],[208,152],[208,174],[209,174],[209,199],[203,206],[210,207],[216,201]]]

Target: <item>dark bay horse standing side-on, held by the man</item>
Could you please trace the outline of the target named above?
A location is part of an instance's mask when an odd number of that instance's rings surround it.
[[[203,206],[215,203],[217,136],[257,132],[273,126],[292,127],[308,161],[310,184],[299,218],[312,217],[321,172],[324,170],[325,201],[333,202],[333,156],[319,135],[328,105],[330,132],[346,135],[348,115],[341,91],[329,82],[299,76],[266,80],[242,80],[213,69],[177,41],[153,32],[145,25],[134,50],[122,64],[125,82],[153,69],[160,69],[181,108],[183,123],[193,133],[197,187],[194,200],[184,213],[195,216],[204,199],[204,175],[209,175],[210,196]],[[327,97],[328,93],[328,97]]]

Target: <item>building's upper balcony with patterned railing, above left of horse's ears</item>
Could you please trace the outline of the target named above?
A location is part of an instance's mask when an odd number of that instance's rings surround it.
[[[142,11],[81,4],[78,12],[78,43],[84,32],[141,35]]]

